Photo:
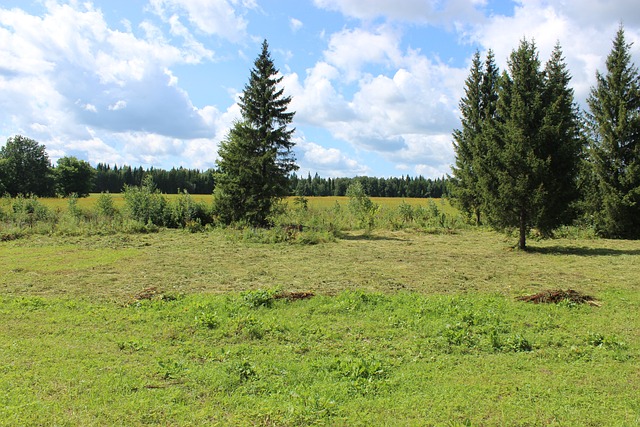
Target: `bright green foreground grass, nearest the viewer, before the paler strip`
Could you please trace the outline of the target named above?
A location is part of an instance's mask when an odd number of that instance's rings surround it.
[[[635,425],[640,417],[638,342],[617,306],[624,298],[601,308],[408,292],[251,301],[251,293],[128,305],[3,297],[0,424]]]

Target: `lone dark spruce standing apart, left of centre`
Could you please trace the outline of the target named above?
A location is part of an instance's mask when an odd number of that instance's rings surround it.
[[[287,126],[290,97],[283,95],[269,45],[251,70],[240,97],[242,120],[236,122],[218,151],[215,212],[225,223],[266,226],[278,199],[288,193],[288,177],[298,169],[292,152],[295,129]]]

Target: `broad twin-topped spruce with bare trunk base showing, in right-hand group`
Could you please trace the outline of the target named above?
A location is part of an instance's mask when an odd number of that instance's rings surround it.
[[[533,42],[523,40],[511,53],[477,168],[489,222],[517,229],[520,249],[526,249],[531,228],[549,232],[567,218],[577,173],[572,162],[580,153],[577,110],[559,46],[545,71],[540,67]]]

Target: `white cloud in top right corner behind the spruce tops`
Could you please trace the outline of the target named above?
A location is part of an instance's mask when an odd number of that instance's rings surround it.
[[[559,42],[573,77],[571,85],[576,98],[584,103],[596,70],[605,69],[605,58],[621,22],[634,24],[625,26],[627,40],[640,41],[637,27],[640,10],[631,0],[522,0],[515,6],[513,15],[491,16],[470,27],[464,37],[486,49],[493,49],[502,69],[523,38],[535,41],[543,63]],[[632,46],[632,54],[637,63],[640,58],[638,43]]]

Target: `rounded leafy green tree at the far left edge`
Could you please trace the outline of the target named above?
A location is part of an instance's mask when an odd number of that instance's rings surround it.
[[[50,196],[53,194],[51,163],[44,145],[22,135],[12,136],[0,147],[2,193]]]

